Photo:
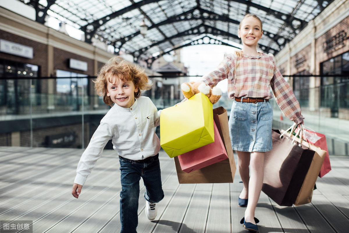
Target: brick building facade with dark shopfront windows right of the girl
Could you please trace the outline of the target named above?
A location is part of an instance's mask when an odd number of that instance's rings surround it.
[[[275,56],[302,112],[349,120],[348,8],[347,0],[331,4]]]

